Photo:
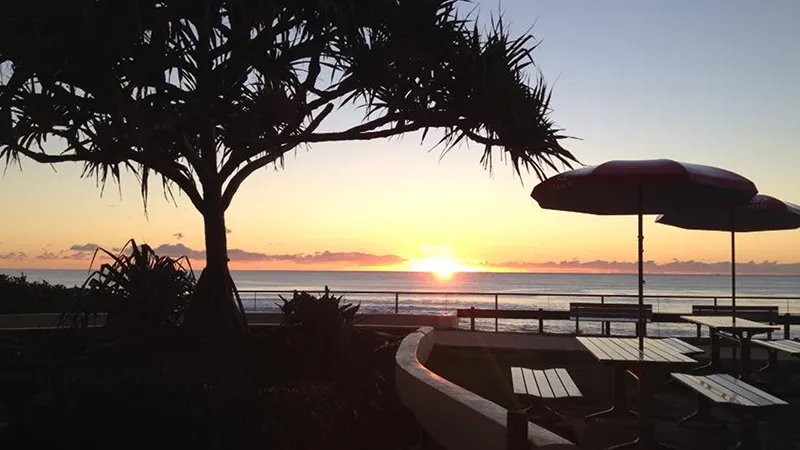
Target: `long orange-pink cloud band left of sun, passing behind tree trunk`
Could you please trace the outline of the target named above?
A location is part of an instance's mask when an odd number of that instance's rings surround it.
[[[158,255],[177,258],[188,256],[191,259],[204,259],[205,252],[194,250],[183,244],[161,244],[153,249]],[[316,252],[294,254],[269,254],[251,252],[239,248],[228,249],[228,258],[234,262],[288,262],[294,264],[343,264],[351,266],[386,266],[399,264],[405,258],[398,255],[375,255],[364,252]]]

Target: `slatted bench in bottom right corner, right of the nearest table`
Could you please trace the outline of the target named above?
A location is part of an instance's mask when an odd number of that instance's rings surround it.
[[[721,422],[711,416],[711,404],[733,407],[736,412],[744,415],[740,421],[741,448],[758,448],[758,420],[754,417],[756,413],[765,408],[788,405],[784,400],[728,374],[696,376],[673,373],[672,377],[697,393],[697,410],[678,423],[685,423],[690,419]]]

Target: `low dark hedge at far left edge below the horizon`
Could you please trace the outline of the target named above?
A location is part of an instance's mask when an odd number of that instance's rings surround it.
[[[0,314],[36,314],[68,311],[75,305],[77,287],[28,281],[22,274],[0,274]]]

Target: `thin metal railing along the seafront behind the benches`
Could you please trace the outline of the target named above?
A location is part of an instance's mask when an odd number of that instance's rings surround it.
[[[267,290],[240,290],[240,296],[245,304],[252,304],[253,312],[258,308],[259,302],[275,302],[278,295],[283,295],[284,298],[291,296],[293,290],[286,289],[267,289]],[[323,290],[306,290],[305,292],[311,294],[321,294]],[[576,301],[595,300],[598,303],[606,303],[606,301],[623,300],[626,303],[637,300],[639,297],[636,294],[589,294],[589,293],[556,293],[556,292],[473,292],[473,291],[393,291],[393,290],[331,290],[331,294],[355,296],[364,298],[365,296],[380,296],[382,299],[375,301],[376,304],[382,306],[380,312],[399,314],[401,305],[404,303],[414,303],[422,306],[424,301],[421,297],[427,298],[444,298],[445,305],[437,309],[433,308],[434,312],[441,313],[444,309],[448,311],[447,305],[448,298],[457,298],[451,300],[454,304],[458,305],[457,308],[452,308],[459,318],[468,318],[470,320],[470,327],[474,329],[475,319],[494,319],[494,330],[499,330],[500,319],[526,319],[535,320],[539,322],[539,332],[544,330],[544,321],[548,320],[570,320],[567,311],[568,303],[564,300],[574,299]],[[414,300],[412,300],[412,298]],[[562,308],[543,308],[536,305],[525,305],[516,303],[513,308],[503,308],[502,300],[508,298],[516,299],[560,299],[562,301]],[[405,299],[405,302],[403,301]],[[482,302],[474,300],[484,299]],[[730,296],[721,295],[653,295],[648,294],[644,296],[645,302],[650,304],[669,304],[668,300],[680,300],[686,304],[708,304],[717,306],[725,306],[730,304]],[[769,302],[772,306],[783,307],[782,314],[779,315],[777,323],[783,325],[784,335],[788,338],[791,335],[791,325],[800,324],[800,314],[792,315],[790,310],[792,304],[800,300],[800,296],[751,296],[742,295],[736,297],[737,303],[740,305],[752,304],[757,302],[765,304]],[[354,300],[355,301],[355,300]],[[393,304],[392,304],[393,303]],[[674,303],[674,302],[672,302]],[[800,303],[797,303],[800,305]],[[476,307],[476,305],[483,307]],[[274,305],[273,305],[274,306]],[[669,308],[666,308],[669,309]],[[419,310],[408,308],[410,313],[420,313]],[[431,312],[431,308],[426,308],[423,312]],[[681,320],[681,315],[691,314],[691,309],[681,311],[654,311],[652,321],[655,323],[685,323]]]

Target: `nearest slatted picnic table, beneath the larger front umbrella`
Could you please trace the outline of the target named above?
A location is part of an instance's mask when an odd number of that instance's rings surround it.
[[[669,448],[655,440],[654,382],[664,373],[672,372],[680,366],[696,364],[697,361],[678,352],[675,347],[660,339],[645,338],[643,350],[639,350],[638,338],[579,337],[577,339],[600,363],[614,369],[614,405],[604,411],[590,414],[586,419],[607,414],[630,414],[625,404],[625,375],[630,373],[639,380],[639,437],[611,448]]]

